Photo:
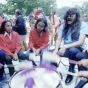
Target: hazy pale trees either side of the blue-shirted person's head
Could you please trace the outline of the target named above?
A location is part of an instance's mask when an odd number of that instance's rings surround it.
[[[81,16],[84,18],[86,22],[88,22],[88,1],[84,2],[82,5],[75,5],[79,11]],[[63,19],[63,16],[65,12],[69,9],[70,7],[62,7],[57,9],[58,16]]]

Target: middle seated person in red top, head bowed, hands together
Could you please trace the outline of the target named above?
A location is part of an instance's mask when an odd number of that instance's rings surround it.
[[[27,60],[30,60],[29,56],[32,52],[36,56],[40,54],[40,60],[42,59],[43,51],[48,49],[49,36],[47,20],[39,18],[35,23],[35,27],[30,30],[28,43],[30,50],[26,53]]]

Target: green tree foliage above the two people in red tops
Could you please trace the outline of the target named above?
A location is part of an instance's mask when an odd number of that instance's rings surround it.
[[[13,15],[16,9],[21,9],[24,15],[28,15],[33,8],[42,7],[47,15],[53,7],[56,7],[56,0],[6,0],[4,5],[4,12]]]

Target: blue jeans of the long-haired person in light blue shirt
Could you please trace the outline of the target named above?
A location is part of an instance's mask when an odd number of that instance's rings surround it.
[[[67,57],[67,58],[69,58],[71,60],[76,60],[77,61],[76,54],[79,53],[79,52],[82,52],[82,50],[83,49],[81,49],[80,47],[69,48],[69,49],[67,49],[65,51],[64,55],[61,56],[61,57]],[[53,52],[53,51],[54,51],[54,49],[53,50],[49,50],[49,52]],[[70,64],[69,65],[69,71],[70,72],[74,72],[74,66],[75,66],[74,64]]]

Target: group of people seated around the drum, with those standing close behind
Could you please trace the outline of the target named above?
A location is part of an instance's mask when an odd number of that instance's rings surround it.
[[[52,52],[53,55],[58,54],[61,57],[67,57],[68,59],[78,61],[78,77],[82,80],[88,78],[86,68],[88,66],[88,50],[85,49],[85,38],[88,35],[88,25],[80,20],[80,13],[76,8],[70,8],[66,12],[64,23],[61,25],[59,25],[59,20],[58,22],[55,20],[57,17],[54,16],[55,12],[53,11],[51,22],[51,25],[53,25],[55,29],[55,49],[53,50],[48,50],[51,30],[49,29],[49,23],[47,22],[46,17],[38,18],[29,33],[28,51],[26,54],[22,52],[21,45],[22,42],[25,41],[26,35],[24,20],[19,10],[16,11],[16,14],[18,14],[18,16],[15,26],[12,26],[11,21],[5,20],[2,22],[0,28],[0,79],[3,78],[5,63],[7,65],[12,65],[12,60],[19,59],[19,61],[32,61],[33,65],[36,66],[36,63],[29,58],[30,53],[34,53],[36,56],[40,55],[40,62],[42,62],[44,51]],[[19,27],[20,25],[21,27]],[[64,41],[64,44],[63,46],[60,46],[62,41]],[[56,67],[58,66],[57,63],[51,62],[51,64]],[[68,70],[70,72],[75,72],[75,65],[72,63],[69,64]],[[8,68],[10,76],[12,76],[14,73],[14,67]],[[72,79],[72,75],[67,75],[65,84],[68,85],[71,83]],[[83,85],[80,85],[79,82],[75,88],[82,88],[86,82],[87,80],[83,81]]]

